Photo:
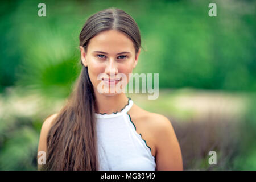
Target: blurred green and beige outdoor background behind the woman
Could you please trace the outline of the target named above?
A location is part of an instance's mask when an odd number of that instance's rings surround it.
[[[255,1],[1,1],[0,170],[36,170],[44,119],[61,109],[79,66],[79,33],[117,7],[138,23],[134,73],[159,73],[159,98],[130,94],[170,118],[185,170],[256,169]],[[215,2],[217,16],[208,5]],[[209,151],[217,164],[208,163]]]

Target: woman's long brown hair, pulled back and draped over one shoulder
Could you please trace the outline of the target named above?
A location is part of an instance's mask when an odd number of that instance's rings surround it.
[[[88,18],[80,32],[80,46],[87,52],[89,40],[106,30],[125,33],[133,41],[137,55],[141,47],[137,23],[125,11],[113,7]],[[88,68],[82,64],[75,88],[48,132],[46,164],[41,170],[98,170],[96,108]]]

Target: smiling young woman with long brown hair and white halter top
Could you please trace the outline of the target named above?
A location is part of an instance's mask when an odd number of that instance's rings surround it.
[[[46,151],[46,164],[38,168],[183,170],[179,142],[166,117],[141,109],[125,93],[98,90],[101,83],[129,82],[141,51],[134,19],[114,8],[90,16],[80,32],[80,50],[82,69],[71,97],[43,123],[38,151]],[[110,78],[119,73],[126,77]]]

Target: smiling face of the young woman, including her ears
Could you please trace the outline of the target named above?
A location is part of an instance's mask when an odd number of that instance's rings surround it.
[[[135,55],[135,47],[132,40],[126,34],[117,30],[101,32],[90,39],[87,52],[84,51],[82,46],[80,46],[80,50],[82,63],[85,67],[88,67],[88,74],[93,84],[94,92],[98,89],[98,84],[110,89],[110,86],[121,85],[125,78],[127,84],[129,82],[129,73],[132,73],[136,67],[141,51],[139,49],[139,52]],[[126,77],[123,77],[123,74]],[[98,77],[100,75],[104,80]],[[120,76],[122,77],[121,81],[118,81]]]

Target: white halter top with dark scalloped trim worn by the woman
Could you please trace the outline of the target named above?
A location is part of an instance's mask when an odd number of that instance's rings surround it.
[[[127,113],[133,100],[119,112],[96,114],[100,171],[154,171],[155,157]]]

